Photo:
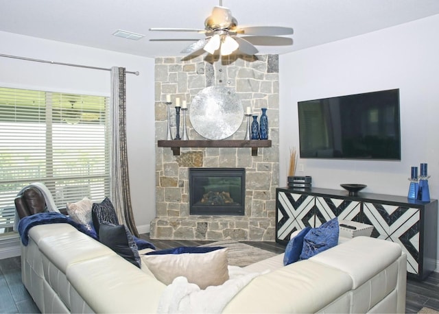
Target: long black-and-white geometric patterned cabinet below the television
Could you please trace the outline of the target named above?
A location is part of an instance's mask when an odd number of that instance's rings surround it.
[[[338,217],[374,226],[371,237],[399,243],[407,254],[407,274],[425,279],[436,269],[438,201],[375,193],[349,196],[331,189],[276,189],[276,242],[295,230],[318,227]]]

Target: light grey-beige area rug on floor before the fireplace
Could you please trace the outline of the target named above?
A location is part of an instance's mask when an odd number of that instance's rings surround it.
[[[277,255],[276,253],[262,250],[259,247],[253,247],[252,245],[239,243],[234,240],[223,240],[200,246],[228,247],[228,265],[239,267],[244,267]]]

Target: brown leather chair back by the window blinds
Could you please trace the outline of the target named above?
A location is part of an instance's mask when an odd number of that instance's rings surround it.
[[[14,202],[20,219],[36,213],[43,213],[46,208],[43,193],[32,186],[29,186],[23,193],[17,195]]]

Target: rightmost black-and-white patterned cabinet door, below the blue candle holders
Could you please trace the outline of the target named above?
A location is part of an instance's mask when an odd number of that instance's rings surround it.
[[[418,274],[419,208],[365,202],[364,215],[374,226],[372,237],[399,243],[407,254],[407,271]]]

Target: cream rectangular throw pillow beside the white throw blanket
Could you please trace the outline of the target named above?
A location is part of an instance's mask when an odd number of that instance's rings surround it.
[[[206,253],[145,254],[142,261],[165,285],[170,285],[178,276],[184,276],[188,282],[206,289],[228,280],[227,250],[225,247]]]

